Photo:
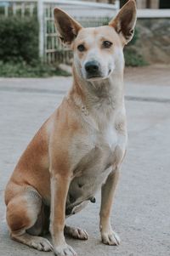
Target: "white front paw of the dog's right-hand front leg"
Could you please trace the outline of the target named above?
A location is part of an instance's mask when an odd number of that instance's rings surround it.
[[[117,246],[121,242],[119,236],[113,230],[110,230],[109,232],[102,232],[101,239],[102,239],[103,243],[108,244],[108,245],[116,245]]]

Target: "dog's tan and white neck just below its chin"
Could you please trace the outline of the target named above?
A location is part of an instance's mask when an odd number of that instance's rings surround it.
[[[103,108],[115,109],[124,104],[123,70],[115,70],[110,77],[87,81],[77,74],[73,66],[73,86],[71,94],[77,102],[82,101],[88,111]]]

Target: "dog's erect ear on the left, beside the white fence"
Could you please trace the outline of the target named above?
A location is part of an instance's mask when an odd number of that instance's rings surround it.
[[[69,14],[58,8],[54,9],[54,24],[59,38],[65,44],[71,44],[77,37],[78,31],[82,28]]]

